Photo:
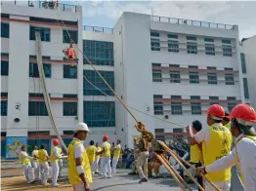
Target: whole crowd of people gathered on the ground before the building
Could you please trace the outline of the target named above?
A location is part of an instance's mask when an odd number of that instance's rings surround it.
[[[237,166],[244,190],[256,190],[256,133],[253,128],[256,122],[255,110],[249,104],[239,104],[229,114],[221,105],[213,104],[206,114],[208,127],[202,127],[197,120],[193,121],[192,125],[186,128],[188,142],[178,137],[176,141],[169,144],[169,148],[195,166],[197,173],[194,175],[206,191],[214,189],[208,181],[203,183],[199,174],[205,174],[205,177],[220,190],[230,191],[231,167],[234,165]],[[67,158],[68,179],[74,191],[89,191],[93,174],[99,173],[104,178],[111,178],[117,166],[131,168],[130,175],[139,174],[141,177],[139,183],[148,182],[149,177],[168,175],[167,169],[156,158],[144,134],[141,138],[134,139],[133,149],[128,149],[126,146],[122,148],[120,140],[110,144],[107,135],[103,137],[101,145],[93,140],[89,145],[84,145],[83,141],[89,132],[85,123],[78,123],[75,126],[73,140],[67,148],[67,156],[62,153],[58,139],[53,141],[50,156],[44,145],[41,145],[40,150],[34,146],[31,157],[22,146],[19,156],[26,181],[32,183],[34,180],[41,179],[41,183],[47,185],[48,162],[51,162],[52,186],[59,186],[57,179],[60,161],[64,158]],[[232,135],[235,136],[235,142]],[[187,182],[190,181],[176,159],[168,153],[163,154],[170,165],[180,172],[181,177]],[[187,164],[183,165],[186,169],[190,169]],[[39,178],[39,172],[41,178]]]

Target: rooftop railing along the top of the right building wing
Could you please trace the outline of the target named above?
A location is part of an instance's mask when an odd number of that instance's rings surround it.
[[[151,16],[151,20],[183,24],[183,25],[192,25],[192,26],[200,26],[200,27],[234,30],[234,25],[231,25],[231,24],[213,23],[213,22],[198,21],[198,20],[192,20],[192,19],[177,19],[177,18],[165,18],[165,17]]]

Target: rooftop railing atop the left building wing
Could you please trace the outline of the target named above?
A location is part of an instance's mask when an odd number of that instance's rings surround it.
[[[57,1],[3,1],[1,0],[1,5],[18,5],[18,6],[27,6],[27,7],[35,7],[42,9],[50,9],[50,10],[61,10],[76,13],[75,5],[68,5],[64,3],[59,3]]]

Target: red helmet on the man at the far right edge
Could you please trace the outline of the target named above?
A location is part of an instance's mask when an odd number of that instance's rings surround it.
[[[253,123],[256,122],[256,112],[251,105],[241,103],[233,108],[230,118],[237,118]]]

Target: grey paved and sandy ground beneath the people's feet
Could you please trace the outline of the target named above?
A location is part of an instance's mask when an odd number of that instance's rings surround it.
[[[21,170],[18,171],[19,173]],[[148,183],[139,184],[138,176],[127,175],[126,170],[119,170],[112,178],[103,179],[100,176],[94,176],[94,183],[92,184],[92,191],[178,191],[181,190],[176,182],[171,178],[159,178],[159,179],[149,179]],[[14,171],[4,171],[6,175],[15,175]],[[17,173],[17,175],[19,175]],[[3,171],[2,171],[3,174]],[[66,170],[64,170],[64,178],[59,180],[61,187],[53,188],[51,186],[42,186],[40,182],[35,182],[33,184],[27,184],[24,181],[24,176],[14,176],[14,177],[1,177],[1,188],[4,191],[72,191],[70,185],[67,182]],[[51,182],[49,182],[51,183]],[[193,190],[197,190],[193,184],[190,184]],[[242,191],[237,179],[232,181],[233,189],[232,191]]]

